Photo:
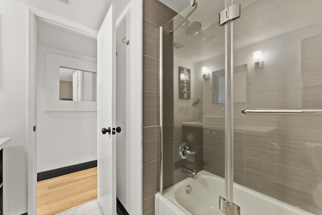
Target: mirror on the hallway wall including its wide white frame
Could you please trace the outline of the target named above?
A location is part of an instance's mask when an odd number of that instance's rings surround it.
[[[96,111],[97,63],[46,53],[46,111]]]

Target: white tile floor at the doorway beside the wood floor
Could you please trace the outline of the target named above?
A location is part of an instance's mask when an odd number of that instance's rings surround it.
[[[102,215],[97,199],[79,204],[54,215]]]

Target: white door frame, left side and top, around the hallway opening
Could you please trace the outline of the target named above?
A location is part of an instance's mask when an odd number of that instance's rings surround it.
[[[37,155],[36,155],[36,77],[37,77],[37,19],[75,31],[97,39],[97,30],[80,25],[68,19],[39,10],[28,9],[28,112],[27,112],[27,152],[28,152],[28,214],[37,214]]]

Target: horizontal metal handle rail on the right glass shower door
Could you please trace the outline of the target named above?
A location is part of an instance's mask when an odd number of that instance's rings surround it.
[[[266,114],[266,115],[322,115],[321,109],[241,109],[244,114]]]

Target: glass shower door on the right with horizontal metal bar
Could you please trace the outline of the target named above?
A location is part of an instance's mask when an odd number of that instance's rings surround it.
[[[234,182],[320,214],[322,2],[239,2],[233,59],[244,68],[234,77]],[[254,202],[235,199],[251,214]]]

